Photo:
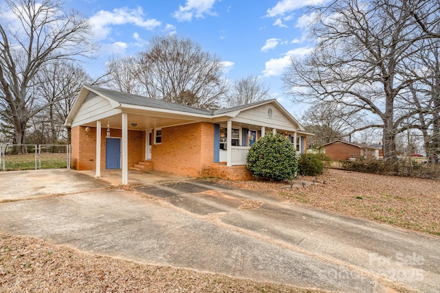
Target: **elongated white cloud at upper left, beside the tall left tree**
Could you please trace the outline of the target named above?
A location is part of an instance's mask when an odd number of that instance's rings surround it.
[[[96,40],[106,39],[111,32],[111,25],[131,24],[142,27],[145,30],[153,30],[161,25],[156,19],[144,19],[144,11],[142,8],[115,8],[113,11],[100,10],[89,19],[94,27]]]

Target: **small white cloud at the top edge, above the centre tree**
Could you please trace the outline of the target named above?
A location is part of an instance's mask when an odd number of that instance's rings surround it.
[[[205,14],[215,16],[211,11],[216,0],[186,0],[185,6],[179,5],[179,10],[173,13],[177,21],[191,21],[192,17],[196,19],[203,18]]]

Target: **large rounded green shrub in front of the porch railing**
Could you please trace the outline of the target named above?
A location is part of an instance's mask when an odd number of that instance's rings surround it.
[[[248,169],[257,178],[292,180],[298,169],[296,151],[287,137],[266,134],[249,150]]]

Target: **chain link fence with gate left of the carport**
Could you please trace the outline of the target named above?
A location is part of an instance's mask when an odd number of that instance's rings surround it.
[[[70,145],[0,145],[0,169],[70,169]]]

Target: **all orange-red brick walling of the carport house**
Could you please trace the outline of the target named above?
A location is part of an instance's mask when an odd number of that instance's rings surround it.
[[[101,132],[101,169],[105,169],[106,128]],[[153,131],[154,134],[154,131]],[[87,137],[88,135],[88,137]],[[145,131],[129,130],[129,167],[145,158]],[[111,129],[111,137],[121,137],[120,129]],[[151,159],[154,169],[193,177],[212,176],[230,180],[252,180],[246,166],[226,167],[214,161],[214,125],[200,122],[162,128],[162,143],[154,144]],[[96,128],[72,128],[72,168],[96,169]]]

